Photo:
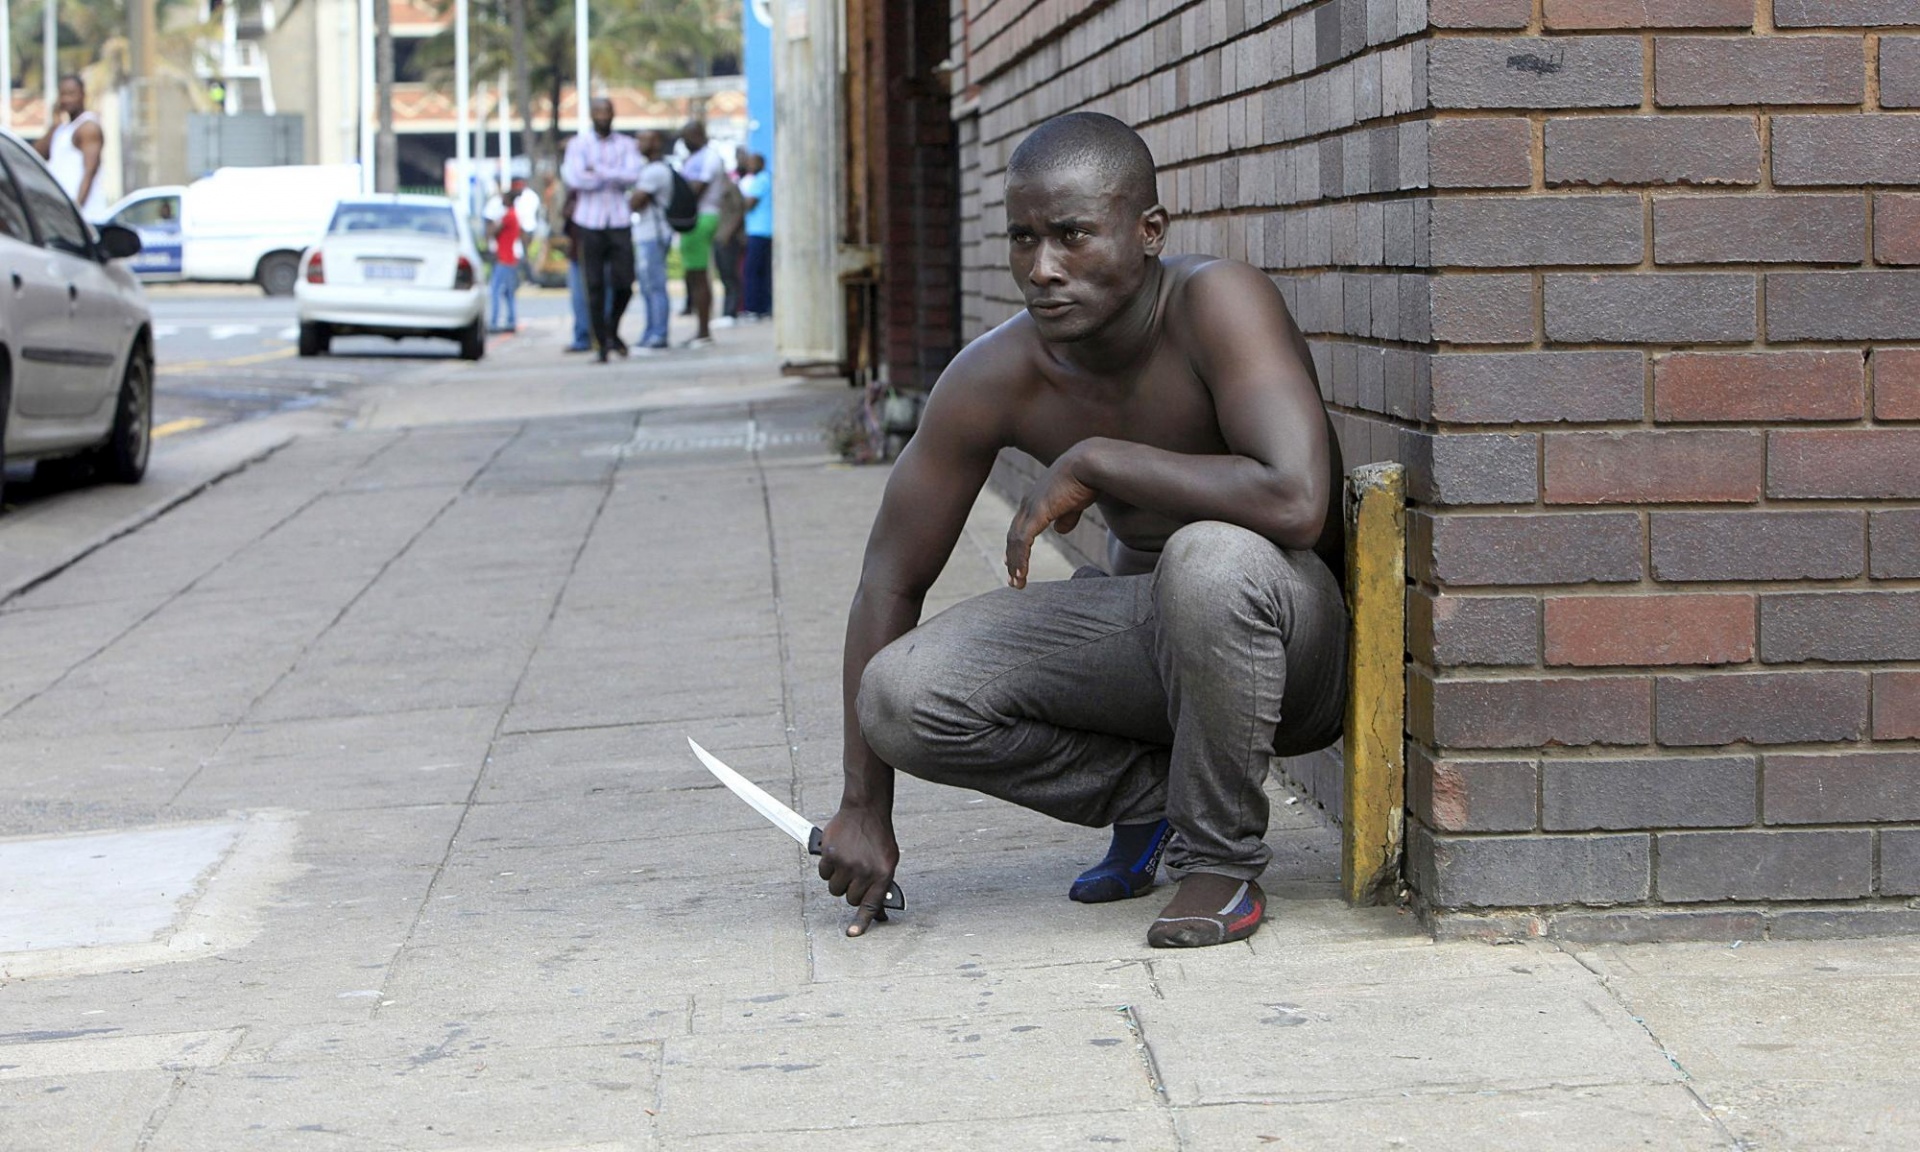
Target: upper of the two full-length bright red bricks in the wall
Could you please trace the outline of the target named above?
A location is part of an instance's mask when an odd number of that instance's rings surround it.
[[[1866,359],[1859,351],[1682,351],[1653,361],[1653,419],[1859,420]]]

